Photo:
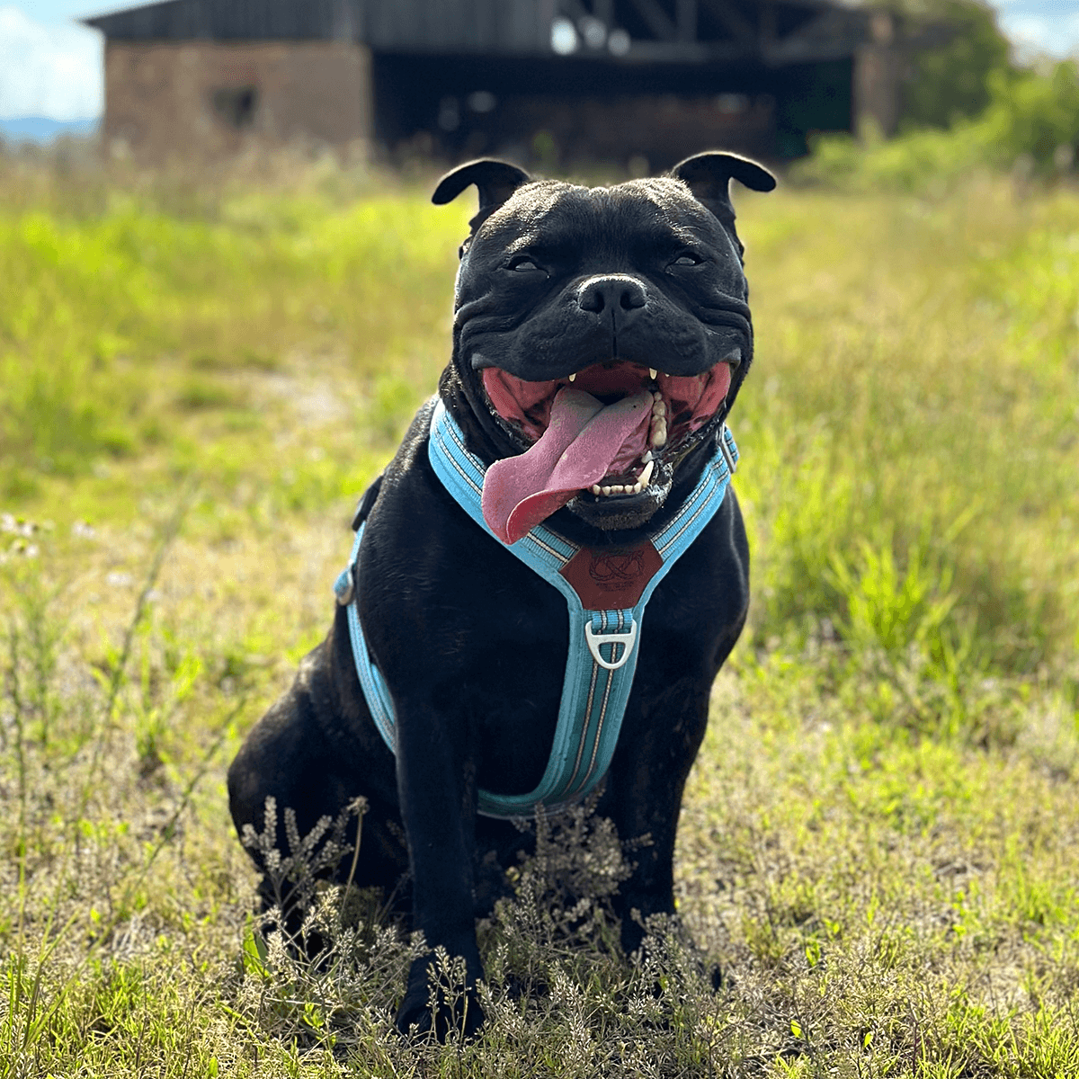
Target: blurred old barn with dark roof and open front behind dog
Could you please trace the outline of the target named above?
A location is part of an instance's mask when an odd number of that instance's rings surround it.
[[[165,0],[84,22],[105,137],[147,163],[299,141],[664,167],[896,120],[890,17],[835,0]]]

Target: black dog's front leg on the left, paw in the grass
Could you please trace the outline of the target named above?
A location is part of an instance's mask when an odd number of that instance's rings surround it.
[[[397,782],[408,835],[413,882],[413,928],[428,947],[409,971],[397,1026],[421,1032],[434,1022],[439,1039],[451,1030],[475,1033],[483,1021],[476,996],[482,976],[476,943],[473,864],[476,845],[475,767],[467,753],[467,724],[434,709],[429,701],[397,701]],[[434,948],[465,964],[465,988],[454,999],[440,988],[429,1007]],[[434,972],[434,981],[439,981]]]

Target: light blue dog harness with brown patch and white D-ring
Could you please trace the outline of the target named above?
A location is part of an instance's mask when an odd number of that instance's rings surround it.
[[[483,816],[528,817],[540,805],[556,812],[584,797],[606,775],[633,687],[644,607],[656,585],[720,508],[737,465],[738,448],[726,426],[718,443],[674,518],[636,547],[583,548],[537,524],[508,548],[565,597],[570,654],[555,740],[540,786],[528,794],[480,790],[478,809]],[[484,465],[465,449],[461,428],[441,401],[432,415],[427,452],[435,474],[457,504],[496,538],[480,506]],[[353,657],[367,706],[383,740],[396,751],[393,698],[371,661],[359,624],[355,584],[364,528],[360,521],[349,565],[333,590],[338,602],[349,607]]]

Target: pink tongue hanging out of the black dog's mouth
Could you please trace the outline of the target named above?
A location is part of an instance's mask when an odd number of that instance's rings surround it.
[[[488,468],[483,520],[503,543],[517,543],[578,491],[603,479],[617,457],[627,456],[624,449],[631,451],[630,459],[642,452],[651,419],[646,390],[604,406],[583,390],[563,386],[538,441]]]

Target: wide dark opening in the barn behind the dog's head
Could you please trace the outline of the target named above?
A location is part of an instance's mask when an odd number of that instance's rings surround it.
[[[544,164],[645,159],[664,168],[709,147],[805,153],[814,131],[849,131],[850,62],[629,65],[590,57],[375,53],[375,138],[463,160]]]

